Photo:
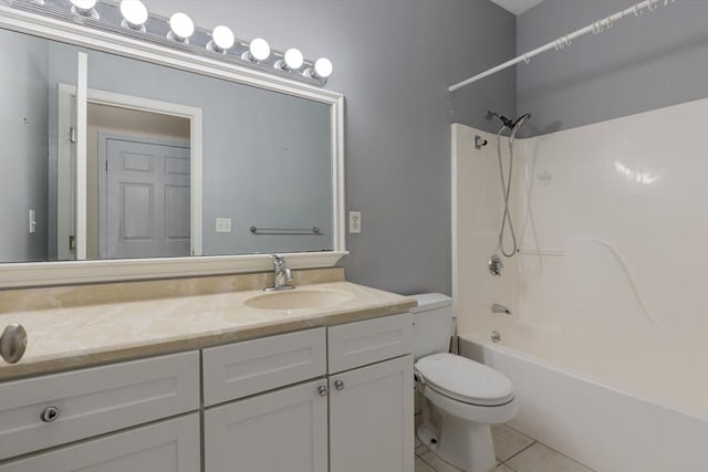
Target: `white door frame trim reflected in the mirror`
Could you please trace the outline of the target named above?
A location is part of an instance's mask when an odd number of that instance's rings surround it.
[[[58,146],[58,185],[56,185],[56,239],[58,255],[67,250],[66,241],[72,235],[73,228],[69,221],[73,220],[73,204],[76,190],[84,189],[86,181],[74,182],[72,172],[72,143],[70,130],[72,127],[71,101],[76,95],[74,85],[59,84],[59,146]],[[139,112],[171,115],[189,119],[189,164],[191,175],[190,193],[190,252],[191,255],[202,255],[202,113],[201,108],[170,102],[160,102],[133,95],[117,94],[95,88],[88,88],[87,102],[98,105],[108,105],[118,108],[128,108]],[[82,232],[79,232],[80,234]],[[85,234],[85,231],[83,232]],[[79,234],[76,234],[79,235]],[[84,242],[85,243],[85,242]],[[66,252],[64,251],[64,254]]]

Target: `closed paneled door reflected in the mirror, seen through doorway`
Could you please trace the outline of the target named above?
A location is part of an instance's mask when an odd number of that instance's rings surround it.
[[[189,144],[124,136],[100,143],[98,256],[190,255]]]

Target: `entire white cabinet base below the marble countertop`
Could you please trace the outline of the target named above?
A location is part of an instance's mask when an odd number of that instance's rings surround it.
[[[410,472],[410,353],[402,314],[0,382],[0,472]]]

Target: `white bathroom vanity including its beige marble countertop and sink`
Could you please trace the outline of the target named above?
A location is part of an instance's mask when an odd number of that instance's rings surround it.
[[[0,471],[410,471],[414,305],[340,281],[0,314],[30,336]]]

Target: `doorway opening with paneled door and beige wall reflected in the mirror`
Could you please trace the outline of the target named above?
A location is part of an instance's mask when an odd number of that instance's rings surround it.
[[[91,102],[87,116],[87,258],[190,255],[189,119]]]

